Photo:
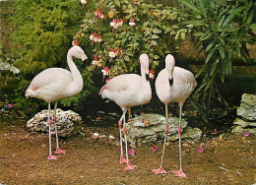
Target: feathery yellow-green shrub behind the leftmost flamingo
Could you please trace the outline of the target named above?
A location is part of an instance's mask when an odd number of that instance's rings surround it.
[[[25,101],[24,97],[25,90],[36,74],[49,67],[67,68],[66,54],[71,47],[74,33],[80,29],[82,12],[81,4],[76,0],[18,0],[14,7],[16,13],[12,21],[16,29],[12,39],[17,45],[13,51],[17,55],[16,66],[21,70],[22,76],[16,90],[16,100],[21,107],[26,108],[31,103],[42,103],[34,98]],[[84,47],[83,44],[80,45]],[[86,49],[85,52],[87,53]],[[82,63],[78,67],[82,75],[88,78],[85,89],[90,90],[92,75],[84,72],[87,67]],[[88,93],[84,92],[83,98]],[[62,103],[74,105],[77,103],[76,98],[78,97]]]

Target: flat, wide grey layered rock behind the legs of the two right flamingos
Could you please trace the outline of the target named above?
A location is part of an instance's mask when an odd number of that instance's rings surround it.
[[[178,118],[169,117],[168,123],[166,141],[177,140]],[[127,142],[131,144],[131,147],[141,143],[162,142],[165,130],[165,117],[160,114],[144,114],[135,117],[126,125],[126,128],[128,131]],[[187,122],[184,119],[181,119],[181,128],[183,130],[182,139],[198,140],[202,135],[200,129],[187,127]]]

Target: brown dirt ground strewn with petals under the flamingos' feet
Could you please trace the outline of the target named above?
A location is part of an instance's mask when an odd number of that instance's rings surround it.
[[[0,184],[253,184],[256,183],[256,137],[223,133],[213,140],[205,137],[198,143],[182,141],[183,170],[187,178],[173,177],[178,169],[178,144],[166,146],[166,175],[155,175],[151,169],[160,166],[162,145],[144,144],[130,156],[137,168],[125,171],[119,164],[116,149],[118,127],[85,127],[84,136],[60,139],[61,149],[54,161],[47,160],[48,135],[31,133],[25,122],[12,125],[1,121]],[[104,138],[92,139],[98,132]],[[109,141],[109,134],[115,137]],[[52,138],[53,148],[55,138]],[[204,153],[197,152],[203,144]]]

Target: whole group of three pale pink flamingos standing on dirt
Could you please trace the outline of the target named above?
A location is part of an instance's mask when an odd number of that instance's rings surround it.
[[[55,101],[53,122],[56,129],[56,151],[55,154],[66,154],[66,151],[59,149],[57,127],[56,127],[56,108],[58,100],[75,95],[83,89],[83,78],[75,65],[72,57],[81,59],[82,61],[88,59],[84,50],[79,45],[72,46],[67,54],[67,63],[70,71],[62,68],[49,68],[32,79],[32,83],[26,91],[26,97],[36,97],[43,99],[48,103],[48,128],[49,128],[49,156],[48,159],[57,159],[57,156],[51,153],[51,119],[50,119],[50,103]],[[137,74],[123,74],[112,78],[101,89],[99,94],[102,98],[108,98],[114,101],[123,111],[123,114],[118,121],[120,132],[120,163],[126,163],[125,170],[132,170],[136,165],[132,165],[128,159],[127,152],[127,130],[125,122],[125,114],[129,107],[138,106],[148,103],[152,98],[152,89],[150,82],[146,79],[149,74],[149,56],[141,54],[141,76]],[[162,69],[156,79],[156,91],[160,101],[165,104],[165,137],[163,142],[160,168],[152,169],[153,173],[166,173],[162,167],[162,159],[164,154],[164,146],[166,135],[168,132],[168,104],[170,102],[179,103],[179,164],[180,168],[177,171],[172,171],[174,176],[186,177],[186,174],[181,168],[181,110],[186,98],[196,87],[196,81],[193,74],[185,69],[175,66],[175,60],[172,55],[168,54],[165,57],[165,68]],[[122,147],[122,131],[124,132],[126,158],[123,155]]]

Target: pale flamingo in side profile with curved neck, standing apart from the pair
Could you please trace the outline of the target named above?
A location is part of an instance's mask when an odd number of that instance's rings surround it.
[[[66,151],[59,149],[57,126],[56,126],[56,108],[58,100],[75,95],[83,89],[83,78],[73,62],[72,57],[86,60],[88,57],[84,50],[74,45],[67,54],[67,61],[70,71],[62,68],[49,68],[32,79],[32,83],[25,92],[25,96],[43,99],[48,103],[48,128],[49,128],[49,156],[48,159],[57,159],[56,155],[51,154],[51,120],[50,120],[50,103],[55,101],[53,121],[56,132],[56,151],[55,154],[66,154]]]

